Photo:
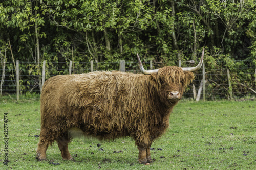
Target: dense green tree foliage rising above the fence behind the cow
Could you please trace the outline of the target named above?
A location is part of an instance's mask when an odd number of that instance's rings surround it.
[[[46,78],[68,74],[70,61],[77,72],[88,72],[91,60],[97,70],[116,70],[120,60],[136,64],[136,53],[156,68],[178,65],[178,57],[186,67],[198,62],[202,47],[206,68],[234,72],[236,60],[256,65],[255,6],[254,0],[8,0],[0,3],[0,48],[3,54],[10,40],[15,60],[34,62],[28,73],[37,83],[43,60]],[[12,61],[9,49],[7,56]],[[240,71],[236,80],[245,78],[255,76]]]

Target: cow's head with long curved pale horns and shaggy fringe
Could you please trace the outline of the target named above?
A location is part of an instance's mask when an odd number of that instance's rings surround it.
[[[182,97],[186,86],[194,79],[192,71],[197,71],[203,64],[204,48],[202,57],[196,67],[181,68],[176,66],[167,66],[155,70],[145,70],[137,54],[141,72],[145,75],[151,75],[158,84],[158,95],[161,102],[166,106],[172,107]]]

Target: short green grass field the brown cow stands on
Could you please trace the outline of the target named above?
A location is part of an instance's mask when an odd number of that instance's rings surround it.
[[[0,129],[0,161],[6,153],[9,161],[0,169],[256,169],[255,101],[180,101],[167,133],[152,144],[151,165],[138,163],[138,149],[130,138],[75,138],[69,151],[76,162],[62,160],[54,143],[47,150],[48,161],[38,162],[39,101],[0,99]]]

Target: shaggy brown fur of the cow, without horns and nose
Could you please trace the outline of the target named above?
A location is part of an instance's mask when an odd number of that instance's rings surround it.
[[[77,128],[103,140],[130,136],[139,162],[152,163],[151,144],[166,131],[179,100],[168,95],[179,91],[182,96],[193,79],[193,72],[180,67],[163,67],[151,75],[102,71],[48,79],[41,92],[37,159],[45,160],[48,146],[57,141],[62,158],[72,160],[69,130]]]

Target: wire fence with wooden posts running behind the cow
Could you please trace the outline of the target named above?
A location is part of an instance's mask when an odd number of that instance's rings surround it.
[[[240,62],[240,61],[236,61]],[[250,61],[249,61],[250,62]],[[40,94],[40,80],[42,79],[42,65],[40,68],[34,62],[19,62],[18,82],[19,96],[39,98]],[[143,63],[145,69],[160,68],[164,63],[145,62]],[[174,65],[178,65],[174,63]],[[65,74],[81,74],[95,70],[120,70],[124,69],[128,72],[138,73],[138,62],[125,62],[124,68],[121,68],[120,62],[112,63],[92,63],[92,62],[46,62],[45,79],[56,75]],[[212,69],[205,67],[205,73],[200,69],[195,72],[195,80],[187,87],[183,94],[183,98],[195,98],[198,94],[200,84],[202,85],[203,74],[205,75],[205,89],[200,95],[199,99],[219,100],[231,98],[255,98],[256,94],[256,68],[255,66],[243,66],[235,70],[228,71],[227,68]],[[230,72],[230,75],[228,75]],[[17,94],[17,79],[14,63],[6,62],[5,69],[3,67],[0,72],[2,80],[2,98],[14,98]],[[5,75],[4,75],[5,73]],[[3,76],[4,75],[4,76]],[[228,78],[228,76],[230,78]],[[195,87],[195,88],[194,88]],[[194,88],[194,90],[193,90]]]

